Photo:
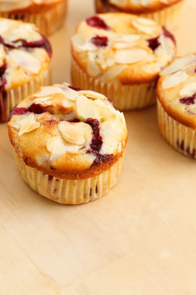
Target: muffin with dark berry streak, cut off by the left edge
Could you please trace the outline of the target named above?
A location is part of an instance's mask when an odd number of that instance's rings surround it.
[[[41,85],[49,85],[51,47],[35,25],[0,18],[0,122]]]

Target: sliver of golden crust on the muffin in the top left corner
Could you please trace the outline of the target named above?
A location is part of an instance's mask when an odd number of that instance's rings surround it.
[[[15,14],[36,14],[52,9],[53,6],[65,0],[24,0],[22,3],[11,3],[9,0],[0,0],[0,12]]]

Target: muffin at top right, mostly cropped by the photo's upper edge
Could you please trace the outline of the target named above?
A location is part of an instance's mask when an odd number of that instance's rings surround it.
[[[185,0],[95,0],[97,13],[128,12],[171,29],[179,22]]]

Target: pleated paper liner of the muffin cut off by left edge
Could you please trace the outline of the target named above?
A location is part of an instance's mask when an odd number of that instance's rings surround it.
[[[0,122],[6,122],[11,110],[27,96],[36,92],[40,86],[50,85],[50,78],[50,69],[48,69],[17,88],[0,90]]]

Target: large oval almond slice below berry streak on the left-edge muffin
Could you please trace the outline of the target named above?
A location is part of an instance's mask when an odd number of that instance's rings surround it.
[[[9,57],[32,73],[38,74],[40,71],[40,62],[24,50],[13,49],[9,52]]]

